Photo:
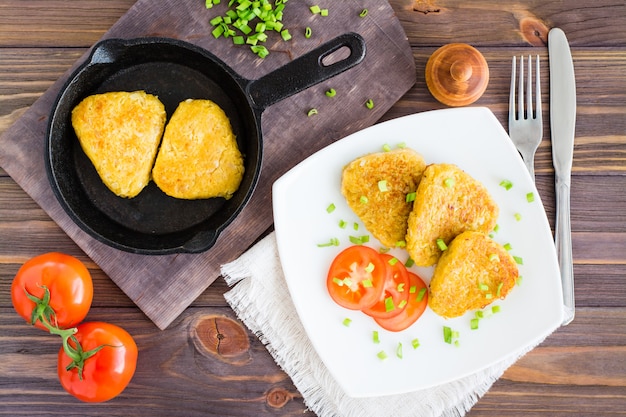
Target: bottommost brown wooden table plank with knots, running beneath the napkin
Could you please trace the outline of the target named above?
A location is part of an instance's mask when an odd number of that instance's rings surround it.
[[[619,406],[626,398],[626,308],[583,308],[577,313],[574,323],[509,368],[468,416],[596,415],[600,409],[623,410]],[[19,404],[24,415],[41,415],[69,404],[66,415],[70,416],[127,416],[127,407],[141,404],[143,414],[170,417],[313,416],[257,338],[249,336],[249,347],[231,356],[211,353],[198,343],[205,336],[195,330],[214,315],[234,319],[227,307],[190,308],[171,329],[160,331],[146,326],[136,308],[92,309],[88,319],[114,318],[123,323],[142,350],[133,383],[115,402],[85,404],[67,396],[58,384],[55,338],[24,325],[2,307],[0,328],[12,337],[0,338],[0,410]],[[601,328],[614,331],[603,333]],[[284,396],[282,406],[270,405],[273,394]],[[38,401],[32,401],[34,396]]]

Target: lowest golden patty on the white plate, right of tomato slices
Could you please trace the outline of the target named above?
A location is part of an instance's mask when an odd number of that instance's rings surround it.
[[[502,245],[484,233],[463,232],[435,267],[428,305],[440,316],[458,317],[505,298],[518,275],[515,260]]]

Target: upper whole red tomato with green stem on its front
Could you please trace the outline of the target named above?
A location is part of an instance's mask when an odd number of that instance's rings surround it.
[[[50,293],[49,300],[44,287]],[[32,301],[27,292],[40,301]],[[92,299],[93,283],[85,265],[73,256],[57,252],[35,256],[24,263],[11,284],[11,300],[17,313],[44,330],[41,315],[53,326],[74,327],[87,315]]]

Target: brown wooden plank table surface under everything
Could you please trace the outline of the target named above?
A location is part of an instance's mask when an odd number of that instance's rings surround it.
[[[0,134],[133,3],[0,0]],[[465,42],[483,53],[490,68],[487,91],[475,105],[489,107],[506,128],[511,57],[541,56],[546,123],[536,175],[552,225],[547,32],[560,27],[568,36],[578,106],[571,189],[576,318],[507,370],[468,415],[626,415],[624,1],[390,3],[411,43],[417,83],[383,120],[444,108],[426,88],[424,67],[438,47]],[[139,345],[133,381],[110,402],[84,404],[66,394],[56,376],[57,340],[25,325],[11,306],[10,283],[20,265],[48,251],[87,264],[95,286],[88,319],[125,327]],[[238,325],[229,330],[243,331],[250,341],[242,364],[241,356],[216,351],[207,333],[198,331],[215,316],[235,318],[222,296],[226,290],[218,279],[159,330],[0,169],[0,415],[312,416],[254,335]],[[231,340],[232,334],[225,336]]]

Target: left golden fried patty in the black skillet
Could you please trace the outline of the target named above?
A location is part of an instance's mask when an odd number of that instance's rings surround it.
[[[76,136],[102,182],[129,198],[150,181],[165,118],[159,99],[143,91],[92,95],[72,110]]]

